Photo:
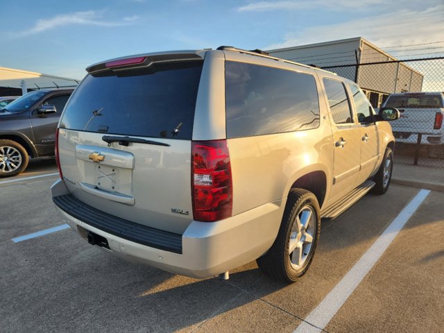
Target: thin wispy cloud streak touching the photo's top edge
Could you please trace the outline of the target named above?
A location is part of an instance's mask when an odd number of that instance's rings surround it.
[[[311,1],[259,1],[248,3],[246,6],[237,8],[239,12],[265,12],[269,10],[300,10],[314,8],[328,8],[332,10],[343,10],[345,8],[361,9],[367,6],[377,5],[387,0],[311,0]]]

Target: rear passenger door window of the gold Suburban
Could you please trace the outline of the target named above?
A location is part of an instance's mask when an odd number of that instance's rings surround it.
[[[330,80],[329,78],[324,78],[323,81],[333,121],[335,123],[352,123],[350,103],[348,103],[343,84],[340,81]]]

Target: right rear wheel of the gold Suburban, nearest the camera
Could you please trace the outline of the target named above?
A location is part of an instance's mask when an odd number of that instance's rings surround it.
[[[321,232],[316,196],[305,189],[291,189],[273,246],[257,265],[277,280],[295,282],[311,264]]]

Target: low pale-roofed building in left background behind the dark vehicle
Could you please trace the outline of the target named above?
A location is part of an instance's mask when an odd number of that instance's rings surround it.
[[[77,87],[80,80],[0,67],[0,96],[20,96],[43,88]]]

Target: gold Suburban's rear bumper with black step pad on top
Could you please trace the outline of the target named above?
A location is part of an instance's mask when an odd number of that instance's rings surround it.
[[[87,231],[94,232],[108,240],[109,249],[106,250],[114,255],[194,278],[218,275],[264,254],[278,234],[286,203],[286,200],[267,203],[218,222],[193,221],[182,235],[178,235],[124,220],[116,226],[112,216],[74,197],[73,202],[77,200],[76,205],[83,207],[67,210],[58,198],[70,196],[65,183],[58,180],[51,190],[61,214],[83,239],[87,239]],[[80,210],[90,214],[76,213]],[[124,231],[126,222],[128,228],[141,227],[142,231]],[[137,237],[128,237],[128,234]]]

